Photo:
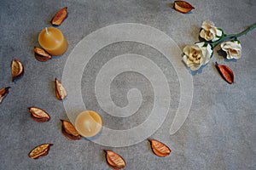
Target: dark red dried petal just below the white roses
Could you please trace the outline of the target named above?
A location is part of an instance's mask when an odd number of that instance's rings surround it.
[[[234,82],[234,74],[230,67],[227,65],[218,65],[217,62],[215,63],[215,66],[221,77],[223,77],[226,82],[229,82],[230,84]]]

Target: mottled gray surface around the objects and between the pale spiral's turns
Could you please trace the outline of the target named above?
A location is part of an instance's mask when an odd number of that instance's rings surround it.
[[[225,33],[236,33],[256,20],[253,0],[189,0],[195,9],[180,14],[170,8],[173,1],[157,0],[88,0],[88,1],[14,1],[0,4],[0,88],[10,86],[9,95],[0,105],[0,169],[108,169],[104,149],[118,152],[125,158],[125,169],[255,169],[256,168],[256,30],[240,38],[242,58],[225,61],[216,53],[209,65],[193,76],[194,98],[189,117],[183,127],[168,135],[170,114],[164,125],[152,136],[172,149],[171,156],[160,158],[151,152],[148,142],[124,148],[108,148],[88,140],[69,141],[61,134],[60,119],[67,119],[62,103],[55,99],[54,78],[61,79],[62,71],[75,45],[86,35],[103,26],[116,23],[141,23],[154,26],[177,42],[180,48],[198,41],[204,20],[212,20]],[[61,57],[38,62],[32,48],[38,46],[38,33],[62,7],[69,16],[59,27],[67,37],[69,48]],[[152,88],[139,74],[124,73],[113,81],[113,101],[125,105],[128,89],[137,87],[143,92],[141,114],[127,120],[115,119],[96,103],[94,80],[99,65],[116,54],[137,53],[153,56],[166,71],[172,86],[172,108],[177,108],[179,90],[177,75],[154,48],[135,42],[121,42],[103,48],[87,65],[82,80],[84,103],[90,110],[102,114],[108,127],[124,129],[143,122],[152,107]],[[178,56],[177,56],[178,57]],[[24,77],[11,82],[10,61],[20,59],[26,67]],[[101,59],[102,58],[102,59]],[[229,65],[235,72],[233,85],[218,76],[212,62]],[[27,107],[38,106],[48,111],[49,122],[33,122]],[[143,114],[144,113],[144,114]],[[27,154],[38,144],[53,143],[48,156],[38,160]]]

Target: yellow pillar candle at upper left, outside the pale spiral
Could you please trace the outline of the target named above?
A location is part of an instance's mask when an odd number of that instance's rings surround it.
[[[68,47],[66,38],[63,36],[62,32],[55,27],[45,28],[41,31],[38,42],[47,53],[53,56],[64,54]]]

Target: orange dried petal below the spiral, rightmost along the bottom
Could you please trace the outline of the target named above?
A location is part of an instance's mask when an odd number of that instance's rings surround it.
[[[171,150],[166,144],[161,143],[155,139],[148,139],[151,143],[151,148],[156,156],[168,156],[171,153]]]

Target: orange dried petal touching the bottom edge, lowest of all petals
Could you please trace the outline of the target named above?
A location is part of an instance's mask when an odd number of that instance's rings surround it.
[[[125,160],[121,156],[119,156],[117,153],[111,150],[105,150],[105,151],[106,151],[106,160],[110,167],[112,167],[113,169],[121,169],[125,167]]]

